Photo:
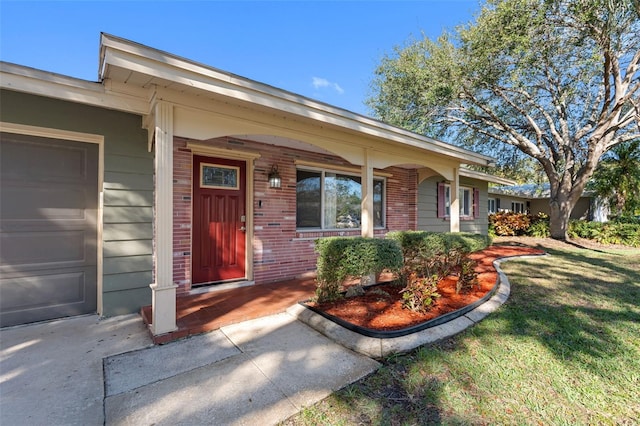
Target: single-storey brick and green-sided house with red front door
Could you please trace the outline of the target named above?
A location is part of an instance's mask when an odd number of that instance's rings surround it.
[[[487,232],[487,156],[110,35],[99,63],[0,65],[4,326],[151,303],[163,334],[177,294],[313,271],[318,238]]]

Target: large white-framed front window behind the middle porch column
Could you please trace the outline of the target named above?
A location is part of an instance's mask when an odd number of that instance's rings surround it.
[[[360,176],[329,170],[297,170],[296,226],[315,229],[360,228]],[[373,226],[384,227],[384,179],[373,180]]]

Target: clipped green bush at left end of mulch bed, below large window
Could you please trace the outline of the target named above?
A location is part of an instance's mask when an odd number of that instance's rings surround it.
[[[347,278],[379,274],[385,269],[398,272],[402,267],[402,251],[393,240],[330,237],[316,240],[315,249],[319,302],[340,298],[342,283]]]

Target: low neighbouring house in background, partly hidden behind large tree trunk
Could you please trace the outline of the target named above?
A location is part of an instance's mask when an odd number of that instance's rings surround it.
[[[488,211],[510,211],[514,213],[530,213],[549,215],[549,184],[510,185],[489,188]],[[571,212],[571,219],[594,220],[601,214],[598,212],[595,197],[584,192]],[[606,216],[606,215],[605,215]]]

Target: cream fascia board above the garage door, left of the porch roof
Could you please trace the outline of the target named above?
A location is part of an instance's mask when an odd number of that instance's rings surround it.
[[[147,114],[144,98],[109,93],[103,84],[0,62],[0,88],[85,105]]]

